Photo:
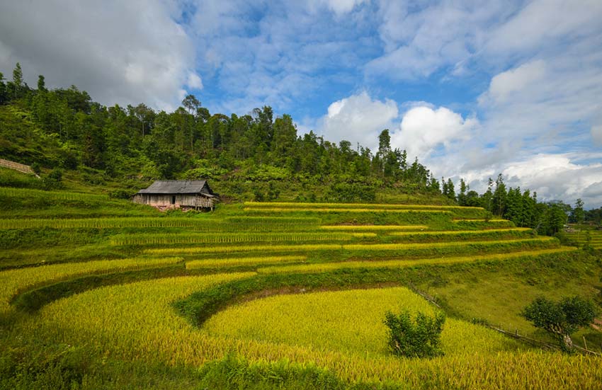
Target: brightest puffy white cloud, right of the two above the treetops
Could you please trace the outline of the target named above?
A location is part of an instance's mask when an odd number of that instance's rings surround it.
[[[438,147],[450,147],[452,142],[466,139],[478,127],[475,118],[462,118],[445,107],[411,108],[404,114],[399,130],[391,136],[391,146],[405,149],[410,159],[424,161]]]

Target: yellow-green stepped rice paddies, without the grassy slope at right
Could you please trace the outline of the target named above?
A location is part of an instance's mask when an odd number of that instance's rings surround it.
[[[15,191],[0,189],[0,196]],[[50,196],[67,204],[113,202],[100,195]],[[30,248],[43,265],[24,261],[0,271],[7,337],[84,345],[103,358],[168,366],[197,367],[234,352],[252,361],[312,363],[348,384],[408,389],[572,389],[574,381],[594,389],[602,381],[596,357],[539,352],[453,316],[443,333],[444,357],[407,360],[387,351],[385,311],[435,310],[404,287],[406,271],[436,275],[453,265],[487,267],[576,251],[510,222],[485,220],[482,209],[248,202],[191,217],[140,210],[59,219],[7,212],[0,219],[3,237],[61,237],[57,251],[73,254],[62,263]],[[93,240],[93,253],[80,248],[84,239]],[[2,256],[11,253],[25,252],[16,247]],[[27,307],[33,299],[35,310]],[[425,377],[432,378],[428,386]]]

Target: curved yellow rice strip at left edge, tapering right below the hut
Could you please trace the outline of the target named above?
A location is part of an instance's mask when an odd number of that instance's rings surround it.
[[[93,273],[111,273],[123,270],[154,268],[180,263],[182,258],[126,258],[96,260],[86,263],[41,265],[0,272],[0,311],[8,308],[8,301],[18,292],[33,289],[47,282],[72,279]]]

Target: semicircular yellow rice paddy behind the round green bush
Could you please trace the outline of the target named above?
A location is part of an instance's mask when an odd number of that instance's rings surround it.
[[[352,289],[256,299],[212,316],[203,329],[217,337],[386,356],[387,327],[382,320],[387,310],[399,309],[434,314],[426,300],[404,287]],[[441,340],[448,356],[518,348],[500,333],[452,318],[445,322]]]

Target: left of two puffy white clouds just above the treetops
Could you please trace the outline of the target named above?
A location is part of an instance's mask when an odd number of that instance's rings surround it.
[[[325,139],[346,139],[374,150],[378,134],[391,128],[398,115],[397,103],[390,99],[373,100],[363,91],[332,103],[319,128]]]

